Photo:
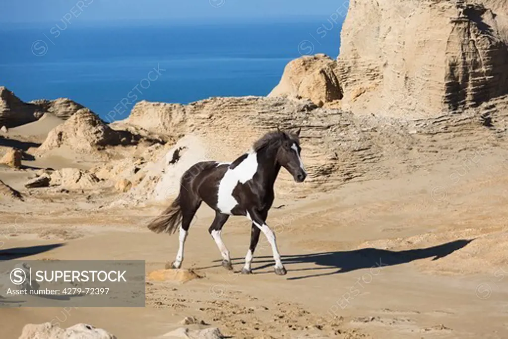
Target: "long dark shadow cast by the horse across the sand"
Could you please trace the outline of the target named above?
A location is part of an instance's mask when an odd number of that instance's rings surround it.
[[[473,241],[470,240],[455,240],[440,245],[432,246],[425,249],[414,249],[405,251],[390,251],[390,250],[379,250],[374,248],[360,249],[352,251],[335,251],[335,252],[322,252],[322,253],[311,253],[311,254],[299,254],[299,255],[282,255],[282,263],[288,271],[310,271],[311,274],[305,274],[302,276],[294,276],[288,278],[288,280],[298,280],[305,278],[313,278],[316,276],[333,275],[338,273],[351,272],[362,268],[378,268],[385,266],[394,266],[409,263],[414,260],[432,258],[432,260],[438,260],[444,258],[453,252],[464,248],[468,243]],[[234,258],[236,264],[243,263],[244,258]],[[253,273],[268,273],[256,272],[265,268],[273,266],[273,258],[271,256],[255,257],[252,261],[253,264],[263,264],[258,267],[253,267]],[[291,266],[294,264],[314,264],[315,267],[297,268],[292,269]],[[333,269],[335,271],[321,273],[319,270],[322,269]],[[317,272],[314,272],[317,271]],[[270,271],[271,272],[271,271]]]

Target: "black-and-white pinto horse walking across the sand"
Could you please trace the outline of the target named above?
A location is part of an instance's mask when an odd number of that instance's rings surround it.
[[[253,144],[248,153],[232,163],[199,162],[184,172],[176,199],[148,225],[155,233],[169,234],[175,233],[180,225],[179,248],[172,263],[173,268],[182,265],[183,245],[190,222],[204,201],[215,210],[215,219],[208,232],[218,246],[225,268],[232,270],[233,266],[220,231],[230,215],[243,215],[252,222],[252,227],[242,273],[252,273],[250,264],[260,232],[263,232],[271,245],[275,273],[287,273],[280,260],[275,234],[266,224],[266,219],[273,203],[273,185],[280,168],[288,170],[296,182],[303,182],[307,176],[300,157],[300,130],[285,132],[277,128],[277,131],[265,134]]]

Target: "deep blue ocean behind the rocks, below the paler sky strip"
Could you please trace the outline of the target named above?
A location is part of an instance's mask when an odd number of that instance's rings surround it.
[[[310,19],[2,27],[0,85],[23,101],[68,97],[102,118],[116,107],[115,120],[140,100],[265,96],[290,60],[335,58],[340,28]]]

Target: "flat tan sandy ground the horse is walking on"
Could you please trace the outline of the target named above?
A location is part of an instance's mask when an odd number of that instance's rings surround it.
[[[240,217],[230,218],[223,231],[235,270],[221,267],[207,232],[212,213],[202,206],[183,262],[202,279],[148,281],[145,308],[0,309],[1,337],[17,338],[24,324],[57,318],[62,327],[85,322],[122,339],[154,338],[185,316],[238,338],[508,337],[508,175],[495,154],[466,171],[464,159],[398,179],[349,182],[298,201],[276,200],[281,207],[272,208],[268,224],[277,233],[285,276],[273,273],[264,238],[254,274],[238,273],[250,233]],[[463,175],[452,180],[459,170]],[[7,171],[0,178],[13,187],[24,180]],[[9,259],[14,248],[63,243],[18,259],[136,259],[146,261],[147,273],[174,259],[177,236],[145,228],[161,206],[90,214],[83,210],[86,199],[76,198],[71,207],[63,199],[25,212],[21,202],[2,207],[0,255]],[[20,215],[26,223],[6,232]]]

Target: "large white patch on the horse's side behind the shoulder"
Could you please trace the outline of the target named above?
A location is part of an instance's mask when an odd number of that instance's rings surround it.
[[[231,214],[231,210],[238,204],[233,197],[233,190],[238,182],[245,183],[252,179],[258,171],[258,154],[250,152],[235,168],[228,168],[224,177],[220,179],[217,191],[217,208],[221,213]]]

